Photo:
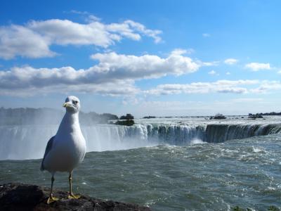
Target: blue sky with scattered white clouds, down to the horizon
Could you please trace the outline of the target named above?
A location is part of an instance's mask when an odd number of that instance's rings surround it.
[[[280,1],[1,1],[0,106],[280,111]]]

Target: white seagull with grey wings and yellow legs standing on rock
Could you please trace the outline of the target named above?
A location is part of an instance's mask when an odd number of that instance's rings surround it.
[[[60,122],[58,132],[47,143],[40,168],[41,171],[47,170],[52,174],[48,204],[58,200],[53,196],[55,172],[69,172],[70,193],[68,198],[80,198],[79,195],[72,193],[72,171],[84,160],[86,153],[86,141],[79,125],[79,98],[68,96],[63,107],[66,110],[65,116]]]

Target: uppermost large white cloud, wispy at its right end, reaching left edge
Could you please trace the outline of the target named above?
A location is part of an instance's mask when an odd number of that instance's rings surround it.
[[[73,11],[80,13],[78,11]],[[26,25],[0,27],[0,58],[15,56],[41,58],[55,56],[49,47],[57,45],[95,45],[103,48],[124,38],[140,40],[151,37],[155,43],[162,41],[159,30],[147,29],[141,23],[125,20],[123,23],[101,23],[89,16],[89,23],[74,23],[71,20],[32,20]]]

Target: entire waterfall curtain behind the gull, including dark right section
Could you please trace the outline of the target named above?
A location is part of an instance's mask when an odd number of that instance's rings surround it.
[[[42,158],[57,124],[1,125],[0,160]],[[168,143],[186,145],[194,140],[212,143],[281,132],[281,124],[113,124],[81,125],[87,151],[113,151]]]

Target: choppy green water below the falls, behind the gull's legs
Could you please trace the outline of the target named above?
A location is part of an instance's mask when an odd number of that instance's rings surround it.
[[[40,162],[0,161],[0,183],[50,186],[50,174],[39,171]],[[67,177],[55,174],[55,188],[67,191]],[[92,152],[73,177],[76,193],[152,210],[280,208],[281,136]]]

